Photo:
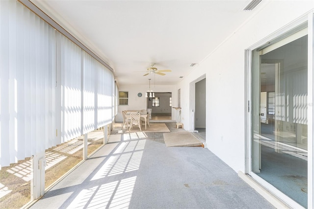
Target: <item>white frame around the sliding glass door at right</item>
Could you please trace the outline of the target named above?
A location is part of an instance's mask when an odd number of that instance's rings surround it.
[[[275,40],[279,36],[287,33],[289,30],[300,26],[304,23],[308,23],[308,208],[314,207],[314,157],[313,157],[313,130],[314,130],[314,122],[313,122],[313,93],[314,93],[314,11],[309,12],[308,14],[300,17],[294,22],[290,23],[288,26],[285,26],[278,31],[272,33],[268,37],[262,39],[258,43],[252,45],[251,47],[245,50],[245,174],[250,175],[255,181],[260,183],[264,188],[266,188],[269,192],[271,192],[274,196],[283,200],[286,204],[291,206],[292,208],[300,208],[300,205],[295,201],[291,200],[287,195],[279,191],[270,183],[263,180],[261,177],[252,172],[252,152],[251,152],[251,135],[252,135],[252,113],[251,113],[251,93],[252,93],[252,52],[263,46],[265,43],[271,42]]]

